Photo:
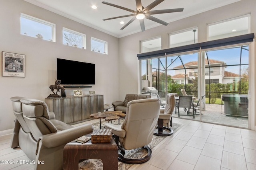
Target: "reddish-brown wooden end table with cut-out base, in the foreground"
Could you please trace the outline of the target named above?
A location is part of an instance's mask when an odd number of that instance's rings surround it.
[[[91,134],[85,135],[91,136]],[[114,139],[110,143],[72,141],[63,150],[63,170],[78,170],[81,159],[101,159],[104,170],[118,170],[118,150]]]

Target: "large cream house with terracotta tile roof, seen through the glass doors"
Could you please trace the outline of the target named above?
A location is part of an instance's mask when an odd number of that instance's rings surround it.
[[[206,84],[209,84],[209,82],[227,84],[240,80],[239,74],[225,71],[226,63],[223,61],[209,59],[209,62],[211,66],[210,69],[208,67],[208,61],[205,59],[206,68],[204,75]],[[185,84],[185,76],[186,84],[192,83],[192,78],[195,78],[195,75],[198,74],[197,61],[190,61],[185,63],[184,66],[186,68],[186,74],[184,69],[180,70],[180,68],[184,68],[183,65],[179,65],[173,68],[175,70],[175,74],[172,76],[172,79],[178,84]]]

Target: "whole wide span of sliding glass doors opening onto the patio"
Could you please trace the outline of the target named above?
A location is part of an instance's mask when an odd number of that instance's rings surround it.
[[[192,107],[179,108],[174,117],[248,127],[248,45],[216,48],[142,59],[141,87],[154,87],[165,100],[167,93],[192,96]],[[174,109],[175,110],[175,109]],[[195,116],[193,117],[193,111]]]

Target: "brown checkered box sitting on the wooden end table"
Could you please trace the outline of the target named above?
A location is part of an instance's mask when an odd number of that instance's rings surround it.
[[[112,129],[99,129],[92,132],[92,143],[110,143]]]

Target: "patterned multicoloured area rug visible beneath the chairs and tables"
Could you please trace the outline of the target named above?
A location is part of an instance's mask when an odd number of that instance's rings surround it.
[[[119,122],[120,125],[123,123],[123,121],[124,121],[124,118],[120,118],[120,122]],[[105,123],[108,123],[108,122],[101,121],[101,129],[105,129],[105,125],[104,125]],[[112,121],[112,124],[118,125],[118,120]],[[100,129],[100,122],[93,123],[92,125],[94,129]],[[180,124],[172,123],[172,130],[174,131],[174,133],[178,129],[180,129]],[[153,135],[153,139],[151,143],[149,143],[147,146],[153,149],[154,147],[156,147],[156,145],[158,145],[158,143],[164,140],[164,138],[166,137]],[[135,158],[142,158],[145,154],[147,154],[147,150],[139,148],[139,149],[129,150],[129,152],[127,152],[124,157],[135,159]],[[133,164],[126,164],[118,161],[118,170],[128,170],[132,165]],[[79,167],[79,170],[103,170],[103,164],[100,159],[80,160],[78,167]]]

